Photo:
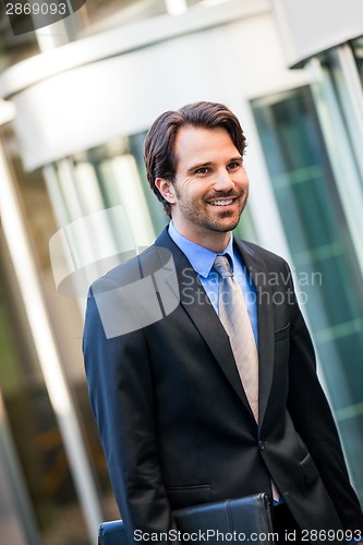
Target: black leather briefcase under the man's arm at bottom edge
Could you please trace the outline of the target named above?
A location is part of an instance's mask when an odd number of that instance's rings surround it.
[[[220,543],[274,544],[270,501],[264,493],[225,501],[214,501],[173,511],[178,531],[171,530],[170,537],[159,543],[190,541]],[[178,535],[180,532],[180,535]],[[184,538],[183,538],[184,534]],[[135,531],[134,543],[143,543],[142,530]],[[157,543],[150,533],[145,541]],[[179,537],[179,538],[178,538]],[[129,545],[121,520],[104,522],[99,526],[99,545]],[[131,544],[130,544],[131,545]]]

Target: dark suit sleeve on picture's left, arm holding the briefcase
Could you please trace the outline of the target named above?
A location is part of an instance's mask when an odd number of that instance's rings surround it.
[[[112,289],[110,280],[97,281],[97,292],[102,289]],[[153,374],[143,329],[107,338],[96,299],[90,289],[83,339],[89,399],[129,543],[134,543],[136,530],[176,530],[158,463]]]

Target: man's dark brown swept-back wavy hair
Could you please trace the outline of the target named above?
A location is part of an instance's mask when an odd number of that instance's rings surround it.
[[[185,125],[205,129],[223,128],[229,133],[234,146],[243,155],[246,141],[239,120],[227,106],[218,102],[194,102],[180,110],[161,113],[150,126],[144,144],[144,161],[148,183],[164,204],[170,217],[171,205],[162,197],[155,185],[156,178],[174,182],[177,158],[174,154],[176,137],[179,129]]]

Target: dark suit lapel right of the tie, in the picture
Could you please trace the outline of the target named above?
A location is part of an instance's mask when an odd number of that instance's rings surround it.
[[[242,241],[235,240],[241,252],[244,265],[257,291],[257,320],[258,320],[258,410],[259,426],[264,421],[274,376],[275,337],[273,293],[269,286],[269,271],[258,259],[256,251]]]

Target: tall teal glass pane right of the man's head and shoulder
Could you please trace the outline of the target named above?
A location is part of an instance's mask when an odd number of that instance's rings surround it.
[[[363,282],[308,87],[254,100],[300,301],[363,497]]]

